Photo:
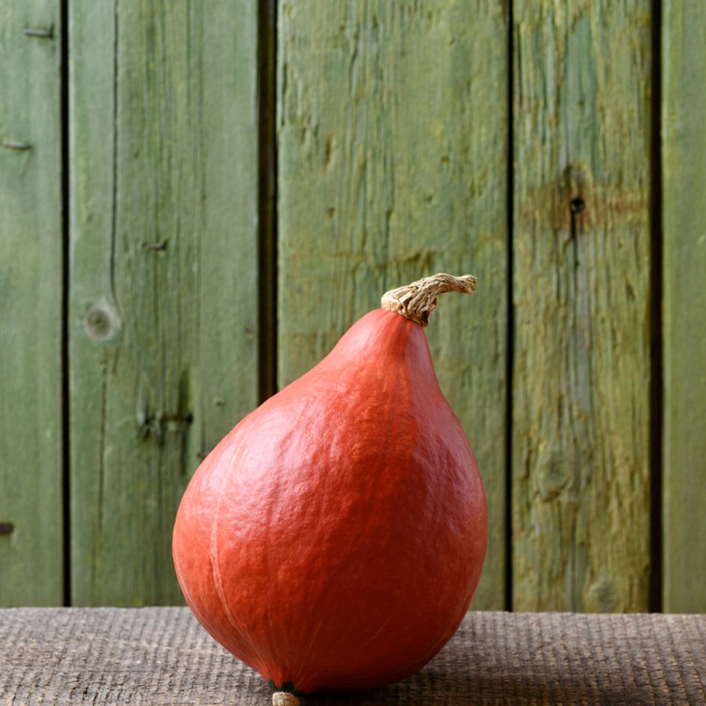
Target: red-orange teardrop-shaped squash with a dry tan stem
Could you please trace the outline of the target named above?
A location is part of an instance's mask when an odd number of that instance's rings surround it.
[[[439,274],[385,294],[184,493],[173,549],[186,602],[275,704],[414,674],[469,607],[486,498],[423,327],[436,294],[474,289]]]

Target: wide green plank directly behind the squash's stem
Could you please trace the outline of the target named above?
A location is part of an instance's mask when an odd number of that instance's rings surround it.
[[[439,270],[477,275],[479,293],[445,298],[426,329],[489,497],[474,608],[505,605],[504,5],[279,6],[279,383],[385,289]]]

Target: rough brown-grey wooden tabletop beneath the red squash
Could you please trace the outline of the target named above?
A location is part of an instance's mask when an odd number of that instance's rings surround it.
[[[706,616],[469,613],[419,674],[313,705],[706,704]],[[0,705],[271,703],[186,608],[0,610]]]

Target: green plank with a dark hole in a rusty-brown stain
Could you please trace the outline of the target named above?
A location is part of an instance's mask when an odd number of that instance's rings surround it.
[[[514,4],[517,610],[647,608],[651,7]]]

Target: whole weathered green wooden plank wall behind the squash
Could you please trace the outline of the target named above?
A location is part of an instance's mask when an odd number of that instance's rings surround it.
[[[474,606],[706,611],[706,4],[0,0],[0,603],[175,604],[190,474],[381,293]]]

